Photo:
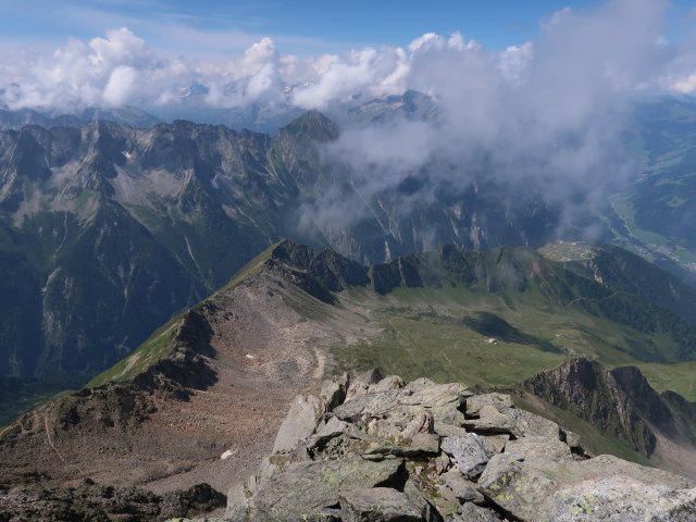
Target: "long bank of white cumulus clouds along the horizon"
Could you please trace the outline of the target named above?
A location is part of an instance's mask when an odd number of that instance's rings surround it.
[[[297,57],[281,53],[271,38],[253,41],[248,34],[167,26],[175,35],[170,40],[195,41],[200,52],[214,50],[216,58],[208,60],[204,53],[162,54],[122,27],[88,41],[71,38],[49,53],[0,54],[0,103],[175,110],[182,92],[198,85],[207,92],[200,99],[211,107],[270,101],[323,109],[356,95],[366,99],[415,89],[451,108],[449,117],[465,122],[464,136],[485,140],[499,130],[490,125],[499,115],[561,125],[563,119],[586,120],[612,94],[694,91],[696,50],[666,42],[663,8],[662,0],[610,0],[594,10],[564,9],[542,21],[534,41],[501,52],[459,33],[427,33],[406,48]],[[513,103],[502,110],[509,97],[524,99],[530,109]],[[554,103],[563,110],[548,110]]]

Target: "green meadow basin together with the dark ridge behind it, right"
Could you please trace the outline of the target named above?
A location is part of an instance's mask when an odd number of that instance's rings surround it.
[[[692,397],[687,380],[666,374],[681,375],[691,363],[680,361],[694,359],[694,290],[613,247],[554,248],[570,257],[443,247],[375,266],[372,288],[352,288],[341,302],[383,335],[336,357],[407,378],[509,386],[588,356],[610,368],[638,364],[658,389]]]

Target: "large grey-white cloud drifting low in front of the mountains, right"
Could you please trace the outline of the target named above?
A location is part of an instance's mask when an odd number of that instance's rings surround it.
[[[631,95],[668,85],[666,75],[682,78],[669,84],[672,89],[693,87],[696,71],[684,72],[696,60],[686,47],[660,40],[664,8],[659,0],[613,0],[594,10],[563,10],[544,23],[537,39],[502,52],[461,35],[423,35],[405,52],[400,82],[437,101],[437,121],[346,132],[332,151],[355,171],[365,200],[413,176],[426,175],[427,183],[410,200],[432,197],[440,182],[467,187],[489,179],[512,184],[521,195],[540,190],[563,201],[573,221],[575,212],[606,202],[631,175],[621,140]],[[374,71],[364,72],[373,73],[372,85],[378,79]],[[345,76],[336,84],[345,85]],[[318,96],[316,85],[321,80],[306,92]],[[322,91],[323,103],[338,90]],[[326,215],[316,203],[308,212]],[[335,212],[327,215],[336,219]]]

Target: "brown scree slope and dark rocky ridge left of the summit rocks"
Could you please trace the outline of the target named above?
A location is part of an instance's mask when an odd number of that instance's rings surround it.
[[[146,498],[203,483],[225,492],[246,480],[271,451],[293,397],[321,384],[331,368],[325,348],[370,331],[286,275],[266,271],[206,301],[185,349],[146,374],[47,403],[0,433],[0,513],[18,509],[23,487],[73,498],[65,488],[89,480],[134,486]],[[321,321],[298,307],[314,307]]]

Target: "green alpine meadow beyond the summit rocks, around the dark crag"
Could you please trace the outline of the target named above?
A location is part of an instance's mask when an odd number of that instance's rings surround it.
[[[348,307],[362,303],[363,313],[384,332],[375,339],[335,350],[337,362],[346,369],[378,366],[407,380],[427,375],[438,382],[462,381],[487,389],[509,390],[534,373],[582,353],[608,368],[636,364],[656,389],[669,388],[688,400],[696,396],[693,378],[696,362],[637,361],[629,355],[630,345],[645,341],[644,334],[591,316],[573,306],[554,309],[534,293],[512,299],[460,288],[398,289],[376,298],[368,294],[369,290],[352,289],[344,296],[344,302]],[[462,320],[482,311],[505,319],[533,340],[489,344],[487,335],[468,327]],[[658,343],[659,338],[651,340]],[[571,413],[533,399],[519,399],[519,403],[570,427],[595,453],[608,452],[648,463],[627,446],[601,435]]]

